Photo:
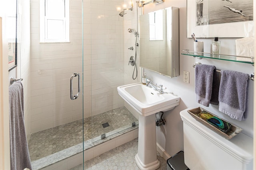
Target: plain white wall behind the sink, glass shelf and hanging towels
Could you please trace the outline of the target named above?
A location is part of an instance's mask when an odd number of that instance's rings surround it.
[[[186,38],[186,0],[165,0],[164,3],[154,5],[148,4],[144,7],[144,13],[152,12],[158,9],[166,8],[169,6],[175,6],[180,8],[180,53],[182,49],[193,49],[193,40]],[[219,39],[221,41],[222,53],[235,55],[235,39]],[[204,41],[204,51],[210,52],[210,46],[212,39],[199,39]],[[251,64],[220,61],[213,59],[197,59],[191,56],[180,55],[180,76],[169,78],[162,76],[155,72],[145,70],[148,77],[151,78],[154,83],[163,84],[166,86],[166,91],[173,92],[180,96],[180,105],[171,111],[164,113],[164,119],[166,119],[166,125],[156,127],[157,142],[168,152],[173,155],[180,150],[183,150],[183,123],[180,118],[180,111],[188,107],[203,107],[195,102],[195,69],[192,67],[196,62],[202,64],[215,65],[218,70],[227,69],[235,70],[251,74],[254,72],[254,67]],[[190,72],[190,83],[183,82],[183,70]],[[248,100],[248,117],[245,121],[236,121],[231,119],[224,113],[218,111],[218,106],[210,105],[204,107],[206,110],[218,115],[234,123],[235,125],[244,129],[242,133],[252,137],[253,136],[253,81],[249,81],[249,100]]]

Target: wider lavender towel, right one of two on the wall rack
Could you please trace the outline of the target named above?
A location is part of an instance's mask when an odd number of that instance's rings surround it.
[[[232,119],[242,121],[247,117],[248,77],[249,74],[242,72],[221,70],[219,111],[229,115]]]

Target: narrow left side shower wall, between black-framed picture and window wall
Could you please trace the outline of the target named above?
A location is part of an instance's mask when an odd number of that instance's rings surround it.
[[[24,117],[26,136],[30,136],[30,2],[19,1],[18,4],[18,48],[17,78],[23,78]],[[21,24],[22,23],[22,24]]]

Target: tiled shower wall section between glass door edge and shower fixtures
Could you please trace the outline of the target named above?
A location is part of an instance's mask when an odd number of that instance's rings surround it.
[[[87,0],[91,5],[92,115],[121,106],[117,87],[124,84],[124,18],[118,15],[122,0]],[[84,10],[84,16],[90,10]]]

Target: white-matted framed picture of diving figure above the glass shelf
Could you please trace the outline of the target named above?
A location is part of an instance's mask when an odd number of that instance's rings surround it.
[[[253,30],[253,0],[187,0],[188,38],[242,38]]]

